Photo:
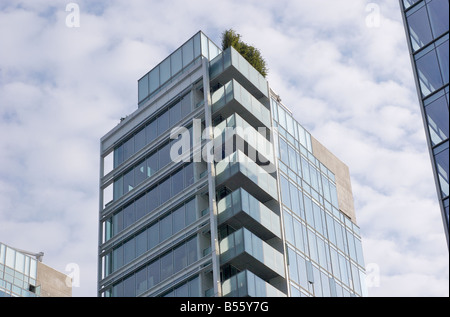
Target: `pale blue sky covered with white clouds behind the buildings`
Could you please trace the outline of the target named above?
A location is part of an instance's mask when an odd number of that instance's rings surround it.
[[[44,251],[66,274],[78,267],[73,295],[96,296],[99,140],[137,108],[138,78],[197,31],[220,43],[229,28],[261,50],[283,103],[349,166],[369,295],[449,296],[392,0],[2,0],[0,241]]]

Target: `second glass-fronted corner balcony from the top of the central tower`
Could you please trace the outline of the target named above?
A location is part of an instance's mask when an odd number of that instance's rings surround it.
[[[231,80],[216,90],[212,96],[213,117],[239,115],[255,129],[271,127],[270,111],[236,80]]]

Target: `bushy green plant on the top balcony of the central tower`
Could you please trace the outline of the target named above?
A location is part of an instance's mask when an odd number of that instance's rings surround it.
[[[233,29],[222,33],[222,50],[226,50],[230,46],[234,47],[261,75],[267,76],[268,68],[261,52],[254,46],[241,41],[241,35]]]

